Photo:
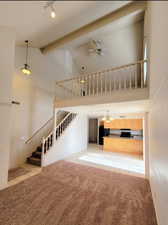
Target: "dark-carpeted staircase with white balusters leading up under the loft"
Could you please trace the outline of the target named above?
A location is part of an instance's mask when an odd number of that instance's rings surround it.
[[[47,137],[43,138],[41,144],[36,148],[32,155],[27,158],[27,163],[36,166],[42,166],[42,158],[44,155],[54,145],[54,142],[63,135],[64,131],[75,117],[76,114],[68,113],[56,126],[55,130],[53,130]]]

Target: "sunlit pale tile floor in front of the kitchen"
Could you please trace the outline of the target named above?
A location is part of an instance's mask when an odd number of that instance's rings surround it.
[[[66,160],[90,165],[105,170],[111,170],[135,176],[145,176],[145,165],[142,156],[104,152],[102,146],[89,145],[87,151],[77,153]]]

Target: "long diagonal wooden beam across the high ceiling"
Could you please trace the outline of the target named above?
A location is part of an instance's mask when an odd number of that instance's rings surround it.
[[[56,48],[59,48],[61,46],[63,46],[64,44],[73,41],[74,39],[77,39],[79,37],[81,37],[82,35],[85,35],[87,33],[93,32],[94,30],[97,30],[101,27],[104,27],[107,24],[110,24],[124,16],[127,16],[131,13],[135,13],[135,12],[143,12],[146,9],[146,2],[132,2],[129,3],[87,25],[84,25],[83,27],[47,44],[46,46],[43,46],[42,48],[40,48],[41,52],[43,54],[52,51]]]

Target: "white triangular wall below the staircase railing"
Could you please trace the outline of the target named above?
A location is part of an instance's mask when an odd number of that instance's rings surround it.
[[[47,166],[65,159],[73,153],[85,151],[87,150],[87,144],[88,118],[77,115],[55,145],[45,154],[43,165]]]

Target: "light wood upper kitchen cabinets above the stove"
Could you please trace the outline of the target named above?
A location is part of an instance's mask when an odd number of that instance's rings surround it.
[[[110,123],[104,122],[104,128],[142,130],[142,119],[115,119]]]

